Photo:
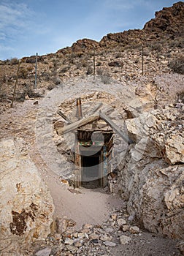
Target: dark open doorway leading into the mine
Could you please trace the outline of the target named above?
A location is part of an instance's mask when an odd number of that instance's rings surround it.
[[[100,165],[99,155],[97,156],[82,156],[82,187],[94,189],[100,187]]]

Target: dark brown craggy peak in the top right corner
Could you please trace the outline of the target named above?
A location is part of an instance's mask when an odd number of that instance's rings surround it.
[[[144,30],[151,33],[161,33],[166,31],[169,34],[180,34],[184,23],[184,3],[179,1],[172,7],[164,7],[156,12],[156,18],[145,24]],[[183,28],[184,29],[184,28]]]

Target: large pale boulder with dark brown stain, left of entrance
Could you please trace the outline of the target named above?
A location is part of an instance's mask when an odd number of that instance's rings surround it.
[[[0,250],[3,255],[21,255],[32,241],[50,233],[53,199],[23,140],[1,140],[0,159]]]

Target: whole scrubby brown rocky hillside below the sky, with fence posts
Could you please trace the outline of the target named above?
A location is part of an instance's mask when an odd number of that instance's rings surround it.
[[[142,30],[107,34],[100,42],[80,39],[72,47],[38,56],[39,91],[35,90],[34,86],[36,56],[23,58],[15,100],[23,102],[27,95],[42,97],[45,90],[53,89],[69,78],[85,77],[93,72],[100,75],[105,83],[108,83],[110,78],[125,82],[137,82],[143,78],[142,80],[152,82],[156,75],[172,72],[183,74],[183,10],[183,2],[178,2],[172,7],[156,12],[156,18],[148,21]],[[3,111],[9,108],[9,102],[12,101],[18,59],[1,61],[0,64],[0,98]]]

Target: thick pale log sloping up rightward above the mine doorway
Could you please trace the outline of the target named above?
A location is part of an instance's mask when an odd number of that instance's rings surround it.
[[[64,133],[72,132],[74,129],[77,129],[78,127],[83,127],[83,125],[92,123],[93,121],[96,121],[98,119],[99,119],[99,115],[83,118],[79,121],[76,121],[73,124],[66,125],[63,129],[59,128],[57,130],[58,135],[63,135]]]

